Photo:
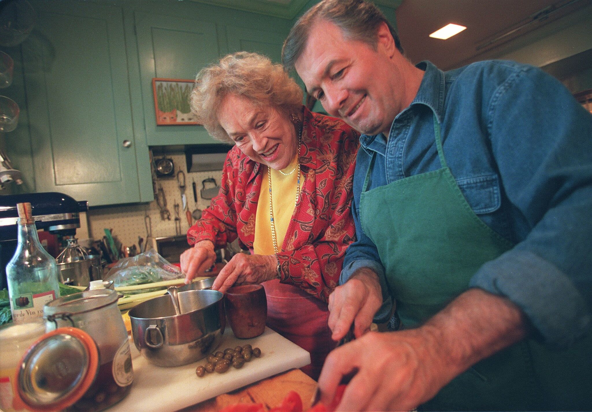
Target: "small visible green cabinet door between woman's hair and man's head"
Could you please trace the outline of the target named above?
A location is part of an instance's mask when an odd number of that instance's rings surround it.
[[[255,52],[268,56],[274,63],[282,62],[282,44],[288,36],[285,30],[255,30],[246,27],[227,26],[230,53]]]

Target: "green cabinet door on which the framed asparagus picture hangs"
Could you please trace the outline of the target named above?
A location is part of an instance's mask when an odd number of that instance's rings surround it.
[[[220,58],[216,25],[136,12],[138,58],[148,145],[214,143],[202,126],[157,126],[152,78],[195,79]]]

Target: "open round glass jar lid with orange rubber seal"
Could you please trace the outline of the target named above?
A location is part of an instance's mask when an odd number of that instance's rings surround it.
[[[33,412],[62,410],[91,387],[98,365],[98,349],[88,333],[57,328],[41,336],[22,357],[15,395]]]

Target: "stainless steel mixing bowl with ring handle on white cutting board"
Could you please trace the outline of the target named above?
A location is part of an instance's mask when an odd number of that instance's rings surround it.
[[[141,355],[157,366],[188,365],[220,344],[226,317],[217,290],[179,292],[180,315],[169,295],[130,309],[131,333]]]

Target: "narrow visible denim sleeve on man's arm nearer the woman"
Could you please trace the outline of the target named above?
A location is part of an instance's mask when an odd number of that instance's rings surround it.
[[[359,219],[359,200],[360,192],[359,188],[362,186],[360,179],[364,174],[360,173],[360,170],[366,170],[368,159],[364,158],[365,154],[361,154],[363,149],[358,152],[358,158],[356,160],[356,173],[354,175],[354,191],[352,200],[352,216],[353,222],[356,226],[356,241],[349,245],[345,251],[345,258],[343,259],[343,269],[339,276],[339,284],[347,282],[356,270],[361,267],[368,267],[378,275],[380,287],[382,290],[382,306],[378,309],[378,312],[374,315],[374,321],[382,323],[388,321],[388,316],[392,309],[392,297],[390,289],[388,288],[387,280],[384,275],[384,267],[378,256],[378,250],[374,242],[368,238],[360,226]],[[358,189],[358,190],[356,190]]]

